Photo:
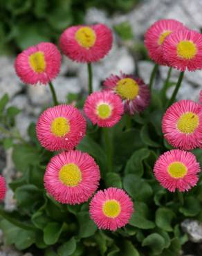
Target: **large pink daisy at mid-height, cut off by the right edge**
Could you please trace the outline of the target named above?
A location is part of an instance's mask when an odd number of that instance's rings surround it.
[[[190,150],[199,147],[202,138],[202,111],[199,103],[180,100],[167,109],[162,122],[169,144]]]

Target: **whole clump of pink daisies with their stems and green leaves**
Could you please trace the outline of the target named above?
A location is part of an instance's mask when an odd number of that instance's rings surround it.
[[[59,48],[42,42],[24,50],[15,60],[15,70],[22,82],[50,86],[53,104],[42,111],[36,123],[39,143],[34,147],[39,151],[40,161],[31,170],[29,161],[28,174],[25,172],[17,183],[11,184],[19,200],[22,183],[28,194],[37,190],[35,175],[42,170],[39,179],[43,179],[44,188],[41,183],[41,196],[37,203],[32,202],[31,212],[21,211],[27,217],[25,223],[21,219],[12,223],[19,228],[31,226],[32,231],[38,228],[35,237],[42,236],[54,255],[55,243],[63,241],[65,245],[58,248],[57,254],[65,255],[69,237],[72,250],[79,244],[79,249],[68,252],[69,255],[91,255],[97,244],[100,255],[138,255],[136,244],[140,255],[147,252],[142,252],[142,247],[154,245],[151,255],[169,255],[169,246],[178,232],[177,220],[177,225],[171,227],[172,217],[165,214],[159,221],[158,212],[172,212],[173,218],[178,214],[195,216],[193,210],[185,209],[183,194],[186,193],[186,201],[189,193],[194,194],[197,185],[201,185],[198,157],[202,148],[202,91],[198,102],[177,100],[177,93],[185,71],[202,69],[202,35],[174,19],[156,21],[145,33],[148,55],[155,62],[149,83],[120,71],[103,77],[100,90],[93,91],[93,65],[110,54],[112,44],[113,32],[104,24],[71,26],[60,36]],[[57,100],[53,84],[59,74],[61,54],[86,65],[89,90],[88,95],[84,93],[80,108]],[[159,65],[169,67],[169,71],[157,91],[153,85]],[[172,95],[167,97],[172,68],[178,69],[179,77]],[[26,142],[24,147],[24,152],[29,152],[33,144]],[[17,156],[14,154],[13,158]],[[5,194],[6,182],[0,176],[1,200]],[[37,192],[32,196],[37,197]],[[194,200],[192,194],[190,198]],[[197,199],[200,201],[201,196]],[[22,200],[17,207],[23,207],[27,201]],[[9,221],[10,217],[4,216]],[[167,221],[165,226],[161,223],[163,219]],[[47,239],[52,229],[54,241]],[[164,243],[165,240],[169,242]]]

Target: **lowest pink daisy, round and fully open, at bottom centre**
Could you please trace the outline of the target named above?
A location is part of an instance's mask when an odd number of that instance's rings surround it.
[[[133,213],[133,202],[124,190],[107,188],[93,196],[90,214],[98,228],[117,230],[129,223]]]

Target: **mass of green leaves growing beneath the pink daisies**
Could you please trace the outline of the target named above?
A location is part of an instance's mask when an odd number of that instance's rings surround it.
[[[43,17],[46,6],[40,1],[37,6],[39,9],[35,12]],[[15,12],[25,12],[28,8],[27,3]],[[9,184],[15,194],[17,210],[6,212],[0,208],[0,228],[6,244],[14,244],[19,250],[33,249],[45,256],[179,255],[187,241],[187,235],[180,229],[181,221],[187,217],[202,218],[201,179],[199,186],[185,193],[184,203],[181,203],[176,193],[162,188],[154,178],[156,159],[171,146],[165,143],[160,131],[166,99],[158,91],[154,91],[153,96],[149,108],[131,118],[131,129],[123,117],[109,130],[113,172],[107,172],[102,129],[88,123],[87,135],[77,145],[77,149],[89,153],[98,163],[99,189],[123,188],[134,202],[129,223],[116,232],[98,230],[89,216],[89,202],[62,205],[46,193],[44,172],[53,153],[39,145],[34,123],[28,127],[29,139],[21,138],[15,129],[19,109],[8,107],[8,95],[0,99],[1,143],[5,150],[12,147],[12,160],[20,174]],[[79,106],[82,105],[80,99],[80,95],[71,95],[67,100]],[[193,152],[202,163],[199,149]]]

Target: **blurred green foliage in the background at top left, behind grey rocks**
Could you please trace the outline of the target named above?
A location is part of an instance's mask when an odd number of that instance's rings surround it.
[[[89,7],[128,11],[138,0],[6,0],[0,3],[0,54],[21,51],[39,42],[55,42],[64,29],[82,24]],[[125,37],[125,26],[118,31]],[[128,27],[128,26],[127,26]],[[127,29],[128,31],[129,29]]]

